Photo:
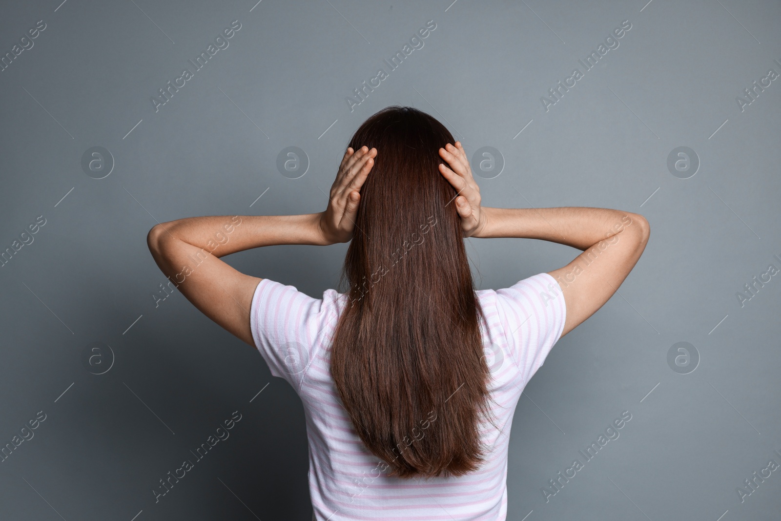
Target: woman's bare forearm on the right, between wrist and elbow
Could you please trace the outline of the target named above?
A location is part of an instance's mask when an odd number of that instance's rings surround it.
[[[486,223],[474,237],[522,237],[566,244],[585,251],[631,229],[642,217],[633,212],[587,207],[510,209],[483,207]],[[636,228],[640,228],[637,227]],[[640,230],[637,230],[638,233]]]

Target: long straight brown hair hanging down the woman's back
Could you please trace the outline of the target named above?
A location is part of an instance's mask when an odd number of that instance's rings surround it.
[[[333,335],[331,375],[388,476],[461,476],[485,458],[482,310],[456,191],[438,169],[438,149],[454,142],[429,114],[391,106],[349,145],[377,155],[344,259],[348,304]]]

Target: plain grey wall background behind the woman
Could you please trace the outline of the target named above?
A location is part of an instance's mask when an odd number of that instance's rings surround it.
[[[736,488],[781,463],[781,276],[743,307],[736,292],[781,268],[781,79],[742,112],[735,99],[781,73],[779,2],[4,2],[0,52],[37,20],[34,47],[0,73],[0,250],[46,219],[0,268],[0,445],[47,416],[0,463],[2,519],[310,518],[301,402],[178,292],[155,307],[166,279],[145,236],[184,216],[325,209],[349,136],[394,104],[430,112],[469,154],[501,152],[501,175],[479,180],[484,205],[651,223],[619,294],[519,401],[508,519],[779,519],[781,470],[743,503]],[[155,112],[152,95],[233,20],[230,46]],[[345,97],[428,20],[424,47],[351,112]],[[546,112],[540,97],[622,20],[619,48]],[[80,166],[93,146],[116,161],[101,180]],[[276,170],[288,146],[311,163],[295,180]],[[685,180],[667,169],[679,146],[701,162]],[[577,254],[468,243],[480,288]],[[318,297],[345,250],[226,260]],[[101,375],[82,363],[96,341],[115,357]],[[694,372],[668,365],[680,341],[700,355]],[[547,480],[625,410],[619,439],[546,502]],[[159,479],[234,411],[230,438],[155,504]]]

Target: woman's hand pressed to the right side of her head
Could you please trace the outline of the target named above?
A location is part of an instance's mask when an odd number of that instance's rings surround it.
[[[455,209],[461,216],[461,227],[464,237],[480,237],[480,232],[486,226],[486,214],[480,209],[480,187],[477,186],[472,169],[469,168],[469,159],[460,141],[455,146],[448,143],[439,149],[439,154],[450,168],[440,163],[440,173],[455,188],[458,194],[455,197]]]

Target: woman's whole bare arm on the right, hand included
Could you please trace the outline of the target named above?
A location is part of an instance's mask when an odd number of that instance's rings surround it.
[[[640,214],[581,207],[483,208],[461,144],[440,148],[440,156],[451,166],[440,164],[440,172],[458,191],[455,205],[465,237],[542,239],[583,251],[567,266],[548,272],[562,287],[567,309],[562,337],[608,302],[643,254],[651,227]]]

